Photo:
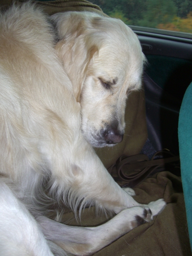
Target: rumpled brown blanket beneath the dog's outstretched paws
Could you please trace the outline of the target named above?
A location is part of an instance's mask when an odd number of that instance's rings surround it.
[[[138,202],[148,204],[164,198],[166,208],[152,222],[138,226],[94,255],[190,256],[181,179],[170,172],[159,172],[134,190],[134,198]],[[79,225],[72,212],[64,214],[63,221],[69,225]],[[81,218],[82,226],[94,226],[104,221],[104,216],[95,216],[94,209],[85,209]]]

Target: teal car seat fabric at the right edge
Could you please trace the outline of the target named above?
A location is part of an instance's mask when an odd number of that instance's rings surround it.
[[[192,83],[184,94],[180,108],[178,138],[182,185],[192,248]]]

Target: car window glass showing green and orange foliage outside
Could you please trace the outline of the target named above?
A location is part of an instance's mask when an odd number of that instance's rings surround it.
[[[192,33],[192,0],[90,0],[125,24]]]

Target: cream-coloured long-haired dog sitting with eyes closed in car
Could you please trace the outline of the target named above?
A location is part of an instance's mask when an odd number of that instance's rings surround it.
[[[89,255],[165,206],[161,199],[136,202],[92,149],[122,140],[127,95],[141,85],[136,35],[120,20],[92,13],[47,20],[31,4],[0,18],[3,256]],[[92,204],[117,215],[95,228],[66,226],[45,216],[51,198],[74,212]]]

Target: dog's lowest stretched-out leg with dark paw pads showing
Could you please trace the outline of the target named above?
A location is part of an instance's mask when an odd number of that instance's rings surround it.
[[[38,217],[38,222],[48,240],[75,255],[90,255],[101,250],[133,228],[151,220],[148,207],[136,206],[123,210],[114,218],[97,227],[67,226]]]

